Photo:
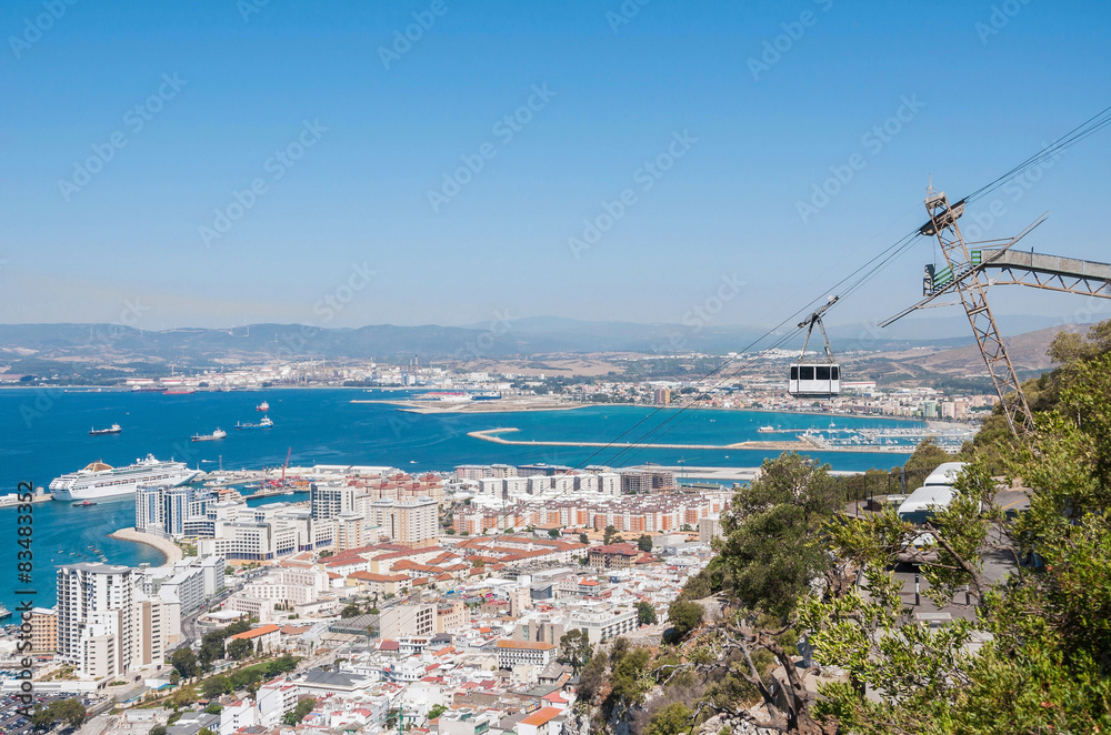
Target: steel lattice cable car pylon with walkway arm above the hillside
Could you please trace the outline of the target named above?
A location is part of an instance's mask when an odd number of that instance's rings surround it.
[[[1011,250],[1012,245],[1045,221],[1045,214],[1010,240],[968,243],[957,224],[957,220],[964,213],[965,203],[962,199],[950,204],[945,193],[934,191],[931,184],[925,198],[925,211],[930,221],[918,232],[937,236],[947,265],[940,271],[933,265],[927,265],[922,284],[925,298],[881,322],[880,326],[888,326],[920,309],[960,303],[972,325],[977,345],[999,394],[1011,433],[1022,436],[1033,430],[1033,414],[1007,353],[995,316],[991,313],[988,289],[993,285],[1025,285],[1111,299],[1111,264]],[[951,294],[957,295],[957,301],[933,303],[939,296]],[[1013,396],[1010,395],[1012,393]]]

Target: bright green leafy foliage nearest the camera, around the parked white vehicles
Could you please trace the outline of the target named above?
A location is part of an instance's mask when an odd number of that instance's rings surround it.
[[[818,713],[829,722],[862,735],[1111,729],[1111,355],[1074,359],[1035,434],[991,457],[1031,489],[1029,510],[1012,517],[993,505],[984,460],[928,524],[937,541],[937,558],[920,565],[929,594],[951,604],[967,585],[974,621],[931,631],[907,620],[889,564],[912,531],[893,513],[831,526],[868,592],[801,610],[815,660],[852,677],[821,688]],[[1000,551],[1028,563],[992,583],[985,555]],[[969,655],[981,631],[990,636]],[[861,696],[864,686],[873,696]]]

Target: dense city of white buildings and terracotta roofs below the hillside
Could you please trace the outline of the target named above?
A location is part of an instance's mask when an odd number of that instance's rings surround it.
[[[168,735],[279,733],[307,698],[300,731],[379,733],[400,719],[424,732],[556,735],[575,696],[571,669],[556,661],[562,636],[658,642],[661,626],[642,624],[638,605],[665,616],[710,560],[732,492],[677,487],[664,471],[544,464],[304,475],[309,501],[259,507],[219,485],[142,490],[137,527],[197,555],[59,570],[56,608],[32,617],[53,679],[43,686],[89,693],[138,677],[156,696],[174,650],[250,620],[229,643],[304,665],[253,695],[221,697],[218,714],[181,714]],[[429,722],[433,707],[442,714]],[[108,729],[142,735],[168,715],[128,709]]]

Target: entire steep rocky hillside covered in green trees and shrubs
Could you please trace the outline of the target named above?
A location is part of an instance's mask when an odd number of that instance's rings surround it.
[[[844,513],[893,472],[839,480],[784,454],[738,492],[662,645],[590,652],[572,728],[1111,732],[1111,322],[1058,335],[1050,358],[1060,368],[1023,386],[1035,434],[1013,440],[992,416],[962,452],[953,503],[925,525],[923,595],[952,622],[917,620],[897,575],[922,530],[892,509]],[[947,459],[924,444],[905,471]],[[1030,489],[1029,510],[995,504],[1012,483]]]

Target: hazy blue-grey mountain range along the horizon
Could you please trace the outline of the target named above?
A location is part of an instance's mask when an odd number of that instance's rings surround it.
[[[929,346],[972,346],[967,321],[909,320],[897,330],[841,325],[830,328],[834,351],[883,351]],[[790,330],[784,330],[787,334]],[[468,361],[520,355],[640,353],[724,354],[748,348],[763,332],[753,328],[631,322],[588,322],[552,316],[513,319],[469,326],[319,329],[298,324],[251,324],[230,330],[141,331],[113,324],[0,324],[0,363],[11,372],[40,372],[47,364],[121,366],[157,364],[211,366],[271,359]],[[942,338],[941,335],[949,336]],[[917,338],[917,339],[915,339]],[[758,349],[775,338],[762,340]],[[801,338],[783,344],[799,349]],[[974,349],[973,349],[974,351]]]

